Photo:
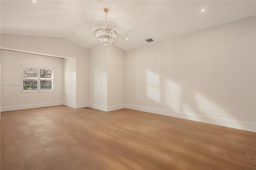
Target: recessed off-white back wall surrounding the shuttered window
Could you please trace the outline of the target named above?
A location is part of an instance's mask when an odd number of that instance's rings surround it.
[[[21,65],[53,67],[54,91],[22,93],[22,86],[1,86],[2,111],[62,104],[64,97],[62,58],[1,50],[1,82],[22,83]],[[45,105],[42,105],[43,103]]]

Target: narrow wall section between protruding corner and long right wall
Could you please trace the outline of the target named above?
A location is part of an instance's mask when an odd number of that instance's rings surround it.
[[[125,52],[112,45],[108,47],[108,107],[124,108],[125,103]],[[114,109],[114,107],[113,107]]]

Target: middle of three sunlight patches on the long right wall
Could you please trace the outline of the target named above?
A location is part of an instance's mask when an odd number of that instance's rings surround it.
[[[182,88],[178,83],[170,79],[164,81],[164,94],[165,94],[165,104],[173,111],[180,110],[180,99],[182,94]]]

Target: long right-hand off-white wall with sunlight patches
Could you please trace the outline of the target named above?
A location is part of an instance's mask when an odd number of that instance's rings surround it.
[[[256,131],[255,20],[126,51],[126,107]]]

